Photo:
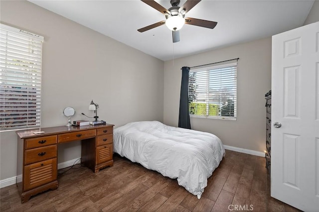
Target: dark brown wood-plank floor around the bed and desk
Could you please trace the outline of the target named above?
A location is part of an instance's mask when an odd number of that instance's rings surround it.
[[[76,169],[76,167],[78,167]],[[3,170],[2,170],[3,171]],[[0,211],[9,212],[295,212],[270,197],[265,158],[226,150],[226,156],[208,179],[200,200],[137,163],[114,155],[114,166],[94,174],[76,165],[58,178],[59,187],[21,204],[15,185],[0,190]],[[234,205],[230,206],[229,205]],[[244,208],[243,208],[244,207]]]

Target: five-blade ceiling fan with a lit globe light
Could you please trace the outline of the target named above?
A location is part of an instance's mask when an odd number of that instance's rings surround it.
[[[178,42],[179,39],[179,29],[186,24],[201,26],[213,29],[217,22],[202,20],[197,18],[185,17],[185,14],[193,8],[201,0],[187,0],[182,6],[178,6],[180,0],[170,0],[171,7],[169,9],[164,8],[155,0],[142,0],[144,3],[152,6],[156,10],[160,11],[165,15],[166,20],[159,21],[157,23],[151,24],[149,26],[138,29],[139,32],[145,32],[149,29],[166,24],[166,26],[172,31],[173,43]]]

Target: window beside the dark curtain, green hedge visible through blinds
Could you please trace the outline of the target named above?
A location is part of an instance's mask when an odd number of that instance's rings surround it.
[[[189,71],[189,114],[236,120],[237,63]]]

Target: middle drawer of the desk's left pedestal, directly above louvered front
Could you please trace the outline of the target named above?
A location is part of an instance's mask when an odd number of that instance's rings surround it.
[[[56,145],[44,146],[35,149],[25,150],[24,162],[25,164],[30,164],[49,158],[56,157],[57,147]]]

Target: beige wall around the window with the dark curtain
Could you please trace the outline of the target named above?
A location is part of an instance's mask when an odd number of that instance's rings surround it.
[[[164,123],[178,125],[182,66],[192,67],[238,57],[237,120],[191,118],[191,127],[217,135],[224,145],[263,152],[266,136],[264,95],[271,89],[271,38],[166,61]]]

